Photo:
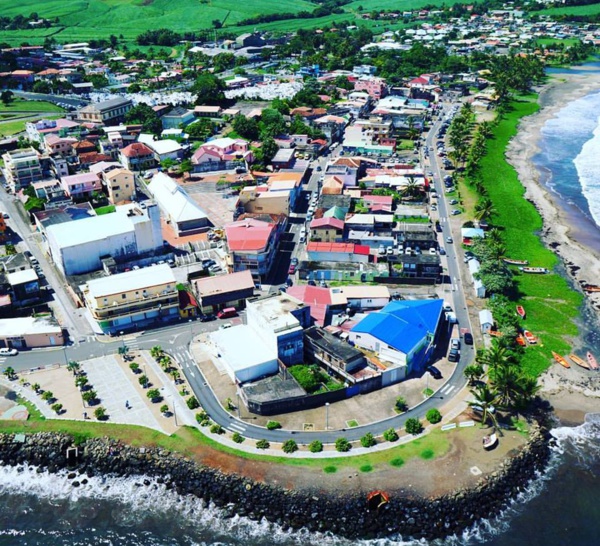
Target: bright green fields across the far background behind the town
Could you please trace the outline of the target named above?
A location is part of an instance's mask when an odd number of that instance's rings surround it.
[[[458,0],[467,3],[467,0]],[[368,21],[359,17],[359,6],[362,13],[378,10],[410,10],[419,9],[426,5],[443,5],[444,0],[357,0],[343,6],[344,13],[328,15],[316,19],[292,19],[275,21],[262,25],[246,27],[232,26],[235,23],[261,14],[297,13],[313,11],[317,4],[307,0],[252,0],[239,4],[232,0],[23,0],[17,4],[3,6],[2,14],[8,17],[15,15],[28,16],[37,12],[40,17],[53,19],[58,17],[59,24],[47,29],[27,29],[0,31],[0,41],[11,44],[28,42],[41,44],[48,36],[53,36],[59,42],[79,42],[93,38],[107,38],[111,34],[123,35],[124,39],[132,41],[138,34],[146,30],[169,28],[177,32],[198,31],[212,28],[215,19],[224,22],[224,29],[234,33],[252,31],[255,28],[280,32],[294,31],[300,28],[315,28],[340,21],[350,21],[352,24],[361,23],[375,31],[396,29],[403,26],[402,22]]]

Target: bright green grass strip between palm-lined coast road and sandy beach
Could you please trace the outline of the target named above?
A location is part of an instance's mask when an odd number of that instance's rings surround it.
[[[487,154],[481,160],[481,171],[489,197],[497,215],[494,223],[502,226],[507,256],[529,260],[532,266],[552,270],[558,263],[556,255],[542,244],[539,231],[542,219],[535,207],[523,198],[525,190],[514,168],[504,158],[508,141],[516,134],[519,120],[538,110],[537,96],[521,97],[512,103],[512,110],[494,129],[488,140]],[[522,363],[525,371],[537,376],[552,362],[551,351],[565,354],[570,346],[565,336],[576,336],[573,320],[579,315],[582,296],[570,289],[557,274],[518,274],[518,302],[527,311],[527,328],[540,337],[537,346],[528,347]]]

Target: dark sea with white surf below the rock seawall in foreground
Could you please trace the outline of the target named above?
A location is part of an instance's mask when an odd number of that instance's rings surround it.
[[[498,517],[435,546],[593,546],[600,537],[600,414],[553,431],[547,470]],[[147,482],[146,482],[147,483]],[[0,466],[0,545],[27,546],[425,546],[403,537],[350,541],[287,531],[266,521],[224,517],[212,504],[181,497],[143,478],[89,478]]]

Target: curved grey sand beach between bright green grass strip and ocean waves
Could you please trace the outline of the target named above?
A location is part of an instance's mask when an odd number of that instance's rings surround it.
[[[508,162],[515,168],[525,188],[525,199],[531,201],[543,220],[541,238],[562,259],[569,276],[581,287],[600,279],[600,247],[586,244],[581,216],[568,210],[559,196],[546,188],[533,158],[540,151],[539,143],[544,124],[569,102],[600,90],[600,72],[561,74],[542,87],[538,103],[540,110],[523,118],[517,135],[506,150]],[[585,224],[589,224],[585,219]],[[596,317],[600,318],[600,293],[586,294]]]

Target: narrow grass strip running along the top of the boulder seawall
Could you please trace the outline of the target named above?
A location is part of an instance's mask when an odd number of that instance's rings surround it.
[[[229,453],[243,459],[263,461],[268,463],[284,464],[295,467],[311,468],[323,472],[335,472],[340,468],[359,469],[363,466],[375,468],[377,465],[400,466],[398,461],[404,462],[417,457],[433,459],[444,455],[449,447],[448,433],[437,429],[412,442],[391,447],[383,451],[373,451],[364,455],[311,458],[307,453],[305,458],[277,457],[246,453],[214,441],[198,429],[182,427],[177,434],[165,436],[164,434],[148,428],[132,425],[115,425],[99,423],[96,421],[67,421],[67,420],[29,420],[25,423],[17,421],[0,421],[0,432],[4,433],[35,433],[35,432],[62,432],[74,436],[76,443],[81,443],[87,438],[109,436],[133,446],[157,446],[181,453],[189,458],[194,458],[199,445]],[[250,441],[250,440],[247,440]],[[426,454],[426,457],[424,456]],[[329,468],[330,470],[327,470]],[[364,470],[363,470],[364,472]]]

